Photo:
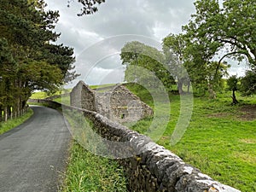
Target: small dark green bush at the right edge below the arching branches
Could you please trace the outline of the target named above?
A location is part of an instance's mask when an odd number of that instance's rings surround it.
[[[241,78],[240,90],[244,96],[250,96],[256,93],[256,70],[247,71]]]

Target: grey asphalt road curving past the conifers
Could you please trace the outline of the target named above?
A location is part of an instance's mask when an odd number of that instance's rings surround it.
[[[61,186],[70,133],[61,113],[32,109],[31,119],[0,135],[1,192],[55,192]]]

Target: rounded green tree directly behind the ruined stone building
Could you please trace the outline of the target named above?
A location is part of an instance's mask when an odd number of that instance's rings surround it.
[[[123,65],[126,65],[125,80],[136,81],[137,79],[143,79],[144,82],[154,86],[158,86],[156,81],[151,81],[152,73],[154,76],[160,79],[160,81],[166,86],[166,88],[172,87],[173,78],[171,74],[164,67],[165,56],[158,49],[150,47],[146,44],[134,41],[125,44],[121,49],[121,60]],[[132,67],[137,66],[137,67]],[[141,67],[138,69],[138,67]],[[147,69],[152,73],[142,72],[142,68]],[[141,73],[137,73],[136,70],[140,70]]]

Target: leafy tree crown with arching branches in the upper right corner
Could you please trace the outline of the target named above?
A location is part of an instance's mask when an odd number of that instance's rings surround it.
[[[205,42],[214,43],[215,52],[227,49],[219,65],[225,57],[233,57],[237,61],[247,58],[252,67],[256,66],[255,1],[224,0],[221,9],[218,0],[200,0],[195,2],[195,9],[196,14],[183,29],[194,32]]]

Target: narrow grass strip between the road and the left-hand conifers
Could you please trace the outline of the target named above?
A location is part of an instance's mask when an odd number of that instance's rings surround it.
[[[29,109],[27,113],[25,113],[23,116],[17,119],[9,119],[6,122],[0,122],[0,135],[6,131],[9,131],[15,128],[18,125],[21,125],[26,121],[26,119],[29,119],[32,116],[32,114],[33,114],[32,109]]]

